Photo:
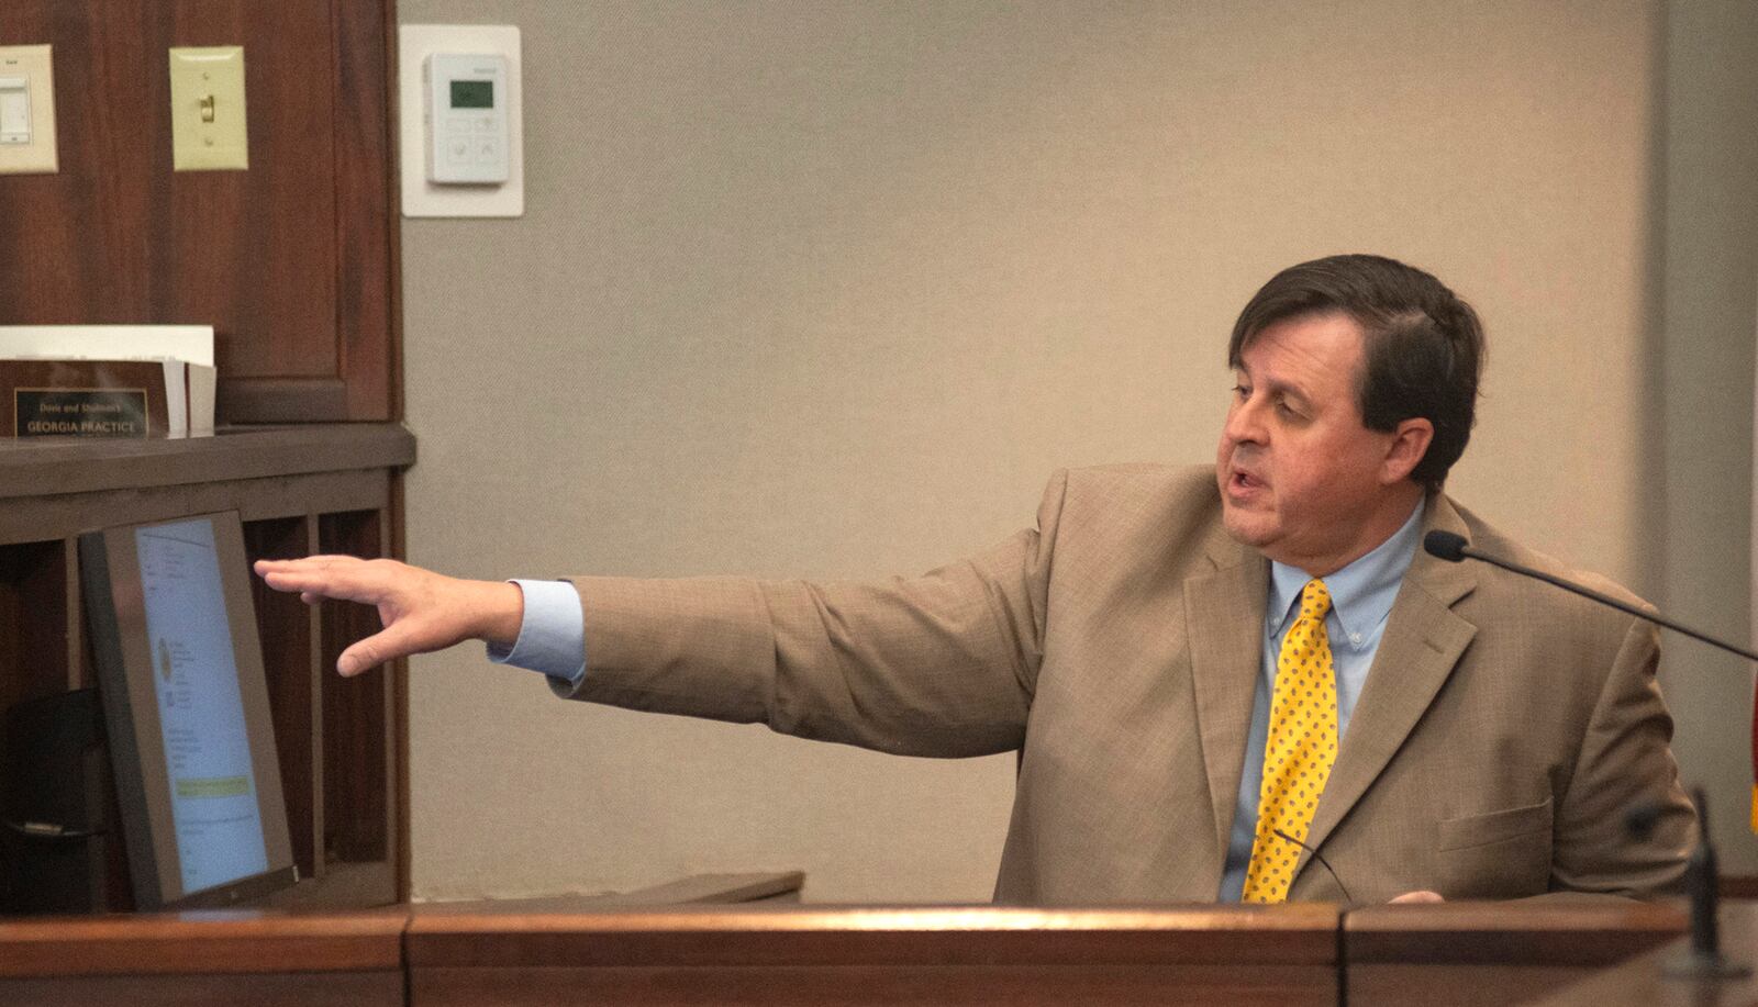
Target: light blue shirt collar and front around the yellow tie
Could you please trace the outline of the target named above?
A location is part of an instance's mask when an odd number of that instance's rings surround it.
[[[1331,663],[1336,668],[1336,731],[1338,747],[1348,743],[1348,719],[1368,680],[1368,668],[1380,648],[1385,617],[1392,612],[1398,587],[1417,555],[1417,532],[1422,531],[1422,508],[1405,520],[1392,538],[1373,552],[1322,578],[1331,592],[1331,613],[1324,617],[1331,638]],[[1269,601],[1264,605],[1264,659],[1257,675],[1257,696],[1252,699],[1252,733],[1245,742],[1245,772],[1239,775],[1239,807],[1232,815],[1232,835],[1227,840],[1227,861],[1220,875],[1220,902],[1239,902],[1245,891],[1245,868],[1252,863],[1252,838],[1257,835],[1257,798],[1264,782],[1264,745],[1269,740],[1269,698],[1276,687],[1276,657],[1282,638],[1294,624],[1294,610],[1301,590],[1311,575],[1280,562],[1269,564]],[[1318,798],[1320,801],[1324,798]]]

